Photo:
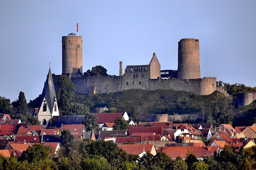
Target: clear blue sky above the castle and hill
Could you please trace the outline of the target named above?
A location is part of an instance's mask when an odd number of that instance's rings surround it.
[[[0,1],[0,96],[42,93],[51,61],[62,73],[61,37],[83,36],[83,72],[119,75],[119,61],[177,70],[178,41],[199,39],[201,77],[256,86],[256,1]]]

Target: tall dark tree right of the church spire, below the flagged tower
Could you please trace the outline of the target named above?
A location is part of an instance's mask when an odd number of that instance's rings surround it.
[[[71,82],[71,79],[66,75],[61,75],[57,79],[57,85],[59,86],[56,97],[58,100],[58,106],[62,111],[69,112],[70,103],[73,101],[76,85]]]

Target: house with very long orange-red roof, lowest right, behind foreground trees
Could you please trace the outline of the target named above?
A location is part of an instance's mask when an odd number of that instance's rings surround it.
[[[186,147],[159,147],[158,152],[165,152],[169,157],[175,159],[180,156],[183,160],[186,159],[188,151],[195,154],[195,157],[198,160],[203,160],[204,157],[214,156],[215,152],[219,152],[218,146],[186,146]]]

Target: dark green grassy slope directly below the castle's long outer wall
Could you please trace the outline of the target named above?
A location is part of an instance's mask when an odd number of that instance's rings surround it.
[[[210,95],[196,95],[175,90],[124,90],[92,96],[77,95],[75,102],[96,107],[114,107],[118,111],[144,114],[192,114],[211,112],[212,101],[219,92]]]

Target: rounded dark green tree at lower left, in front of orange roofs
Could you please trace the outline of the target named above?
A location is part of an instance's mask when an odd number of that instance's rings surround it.
[[[29,163],[35,163],[39,160],[48,159],[49,153],[47,148],[45,148],[41,144],[34,144],[33,146],[29,146],[26,151],[24,151],[23,158],[27,160]]]

